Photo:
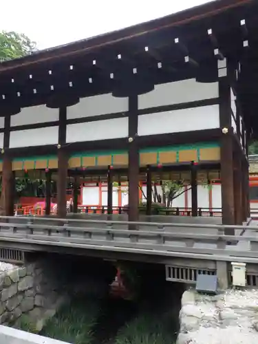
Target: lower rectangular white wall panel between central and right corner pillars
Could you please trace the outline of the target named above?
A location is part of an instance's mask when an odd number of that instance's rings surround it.
[[[219,128],[219,105],[141,115],[138,135]]]

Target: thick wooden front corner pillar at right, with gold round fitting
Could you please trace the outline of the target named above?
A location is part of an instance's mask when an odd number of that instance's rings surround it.
[[[219,124],[222,129],[220,140],[220,164],[222,182],[222,223],[235,223],[233,183],[233,131],[231,124],[230,80],[226,59],[219,62]],[[225,230],[234,235],[235,230]]]

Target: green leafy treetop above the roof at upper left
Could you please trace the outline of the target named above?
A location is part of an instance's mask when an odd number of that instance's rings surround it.
[[[0,62],[19,58],[36,50],[36,43],[25,34],[17,32],[0,32]]]

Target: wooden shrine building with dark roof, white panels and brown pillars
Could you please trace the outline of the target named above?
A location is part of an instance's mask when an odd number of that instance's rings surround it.
[[[258,136],[258,3],[217,0],[148,23],[0,63],[3,208],[14,175],[129,182],[138,219],[140,178],[186,173],[222,183],[222,221],[241,224],[248,202],[248,140]],[[204,177],[203,177],[204,176]],[[50,191],[47,193],[50,207]]]

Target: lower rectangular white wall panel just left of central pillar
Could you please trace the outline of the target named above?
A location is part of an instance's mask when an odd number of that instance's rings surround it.
[[[108,140],[128,136],[128,117],[67,125],[67,142]]]

